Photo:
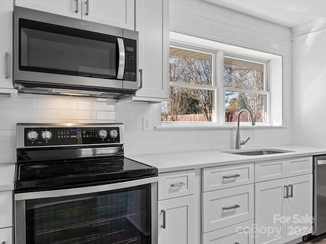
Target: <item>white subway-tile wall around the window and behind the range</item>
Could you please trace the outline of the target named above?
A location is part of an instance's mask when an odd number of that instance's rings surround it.
[[[291,143],[291,32],[289,28],[245,14],[213,6],[200,0],[170,1],[171,31],[238,45],[283,56],[283,120],[289,128],[241,130],[251,137],[242,148]],[[280,98],[282,99],[282,98]],[[151,117],[152,130],[142,131],[142,118]],[[16,123],[104,123],[125,124],[125,154],[151,154],[197,149],[234,147],[235,129],[164,129],[160,126],[160,104],[44,95],[0,96],[0,162],[14,163]]]

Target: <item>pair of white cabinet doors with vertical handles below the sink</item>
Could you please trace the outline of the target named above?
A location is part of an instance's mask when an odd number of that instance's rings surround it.
[[[255,244],[283,244],[312,232],[312,174],[255,184]]]

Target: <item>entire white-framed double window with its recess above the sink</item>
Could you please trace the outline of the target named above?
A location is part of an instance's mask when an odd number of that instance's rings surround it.
[[[170,33],[170,99],[164,126],[226,126],[241,109],[260,125],[282,125],[282,57]],[[272,84],[273,85],[270,85]],[[248,122],[241,113],[240,122]]]

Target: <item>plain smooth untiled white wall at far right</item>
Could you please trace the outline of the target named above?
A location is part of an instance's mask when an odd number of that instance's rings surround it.
[[[326,146],[326,29],[293,40],[293,144]]]

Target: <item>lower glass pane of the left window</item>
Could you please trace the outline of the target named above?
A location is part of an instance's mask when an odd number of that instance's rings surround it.
[[[213,90],[170,86],[170,103],[162,103],[162,121],[212,121]]]

